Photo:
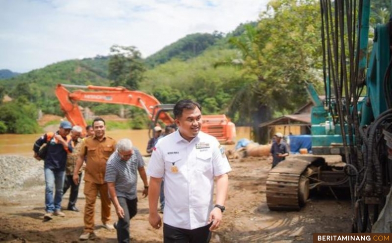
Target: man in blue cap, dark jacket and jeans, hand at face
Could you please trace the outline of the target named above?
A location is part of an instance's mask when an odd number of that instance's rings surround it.
[[[34,158],[44,159],[45,169],[45,220],[51,220],[53,215],[64,217],[61,211],[61,200],[65,177],[66,155],[72,152],[72,146],[68,143],[71,138],[68,135],[72,125],[68,121],[60,123],[59,131],[42,135],[34,144]],[[45,157],[39,155],[41,146],[47,146]],[[55,197],[53,191],[55,189]]]

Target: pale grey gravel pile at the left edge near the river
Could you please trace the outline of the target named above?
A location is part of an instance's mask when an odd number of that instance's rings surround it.
[[[0,192],[45,185],[44,162],[34,158],[0,156]]]

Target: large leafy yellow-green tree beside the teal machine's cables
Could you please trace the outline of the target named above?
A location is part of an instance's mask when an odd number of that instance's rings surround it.
[[[256,27],[245,25],[244,34],[230,39],[242,54],[244,76],[251,78],[233,98],[231,109],[253,119],[257,141],[268,139],[258,125],[269,120],[273,110],[302,105],[308,99],[305,81],[320,79],[315,72],[321,67],[320,23],[318,1],[272,0]]]

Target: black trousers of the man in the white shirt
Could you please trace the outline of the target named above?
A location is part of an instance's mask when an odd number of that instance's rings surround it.
[[[211,224],[193,230],[163,224],[163,243],[209,243]]]

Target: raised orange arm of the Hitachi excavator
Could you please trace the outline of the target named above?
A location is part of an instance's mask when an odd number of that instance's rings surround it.
[[[85,90],[76,90],[69,92],[66,88],[79,88]],[[148,118],[154,122],[155,117],[152,116],[153,107],[159,105],[160,102],[153,96],[147,95],[140,91],[130,91],[124,87],[103,87],[103,86],[81,86],[81,85],[65,85],[58,84],[56,87],[56,96],[60,101],[60,107],[65,113],[65,117],[73,125],[86,127],[83,114],[77,104],[77,101],[100,102],[110,104],[126,104],[132,105],[145,110]],[[166,125],[173,124],[173,118],[161,112],[158,116]]]

